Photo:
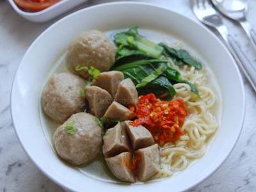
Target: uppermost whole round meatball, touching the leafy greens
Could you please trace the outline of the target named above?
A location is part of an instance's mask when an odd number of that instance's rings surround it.
[[[87,70],[80,67],[95,67],[101,72],[109,70],[115,61],[115,48],[101,31],[87,31],[78,36],[70,45],[66,63],[71,72],[88,79]]]

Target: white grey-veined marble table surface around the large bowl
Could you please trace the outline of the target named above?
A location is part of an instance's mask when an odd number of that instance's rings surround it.
[[[105,2],[110,1],[88,1],[79,8]],[[159,4],[195,19],[189,0],[144,2]],[[248,0],[248,3],[248,20],[256,28],[256,1]],[[10,115],[10,91],[20,60],[36,36],[58,19],[35,24],[19,17],[8,1],[0,0],[0,191],[3,192],[64,191],[45,177],[26,155],[17,140]],[[229,20],[225,22],[230,33],[241,45],[241,49],[256,65],[256,52],[253,52],[243,31]],[[211,177],[190,191],[256,191],[256,94],[246,80],[244,85],[246,117],[236,147],[227,161]]]

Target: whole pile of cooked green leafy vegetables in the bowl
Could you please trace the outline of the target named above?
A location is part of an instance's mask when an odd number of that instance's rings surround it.
[[[154,44],[138,33],[138,27],[117,33],[114,42],[118,49],[111,70],[119,70],[125,78],[130,78],[140,95],[154,93],[158,97],[172,99],[175,95],[173,84],[176,83],[189,84],[191,92],[199,95],[194,84],[182,79],[179,71],[168,66],[168,60],[172,60],[175,65],[202,68],[202,64],[184,49]]]

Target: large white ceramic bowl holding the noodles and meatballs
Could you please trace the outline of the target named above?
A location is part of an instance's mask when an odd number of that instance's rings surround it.
[[[168,179],[120,185],[87,177],[64,164],[47,142],[40,124],[40,90],[61,52],[82,31],[118,29],[137,24],[167,31],[195,47],[214,71],[223,100],[218,132],[204,157]],[[12,117],[17,136],[32,161],[52,180],[71,191],[184,191],[214,172],[232,151],[244,119],[244,88],[236,63],[220,40],[203,26],[178,13],[142,3],[109,3],[86,8],[59,20],[29,47],[12,89]]]

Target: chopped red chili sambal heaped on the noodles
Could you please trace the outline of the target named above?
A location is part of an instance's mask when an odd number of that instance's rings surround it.
[[[131,125],[145,126],[159,145],[179,140],[187,116],[184,100],[160,100],[150,93],[139,98],[135,110],[136,120]]]

